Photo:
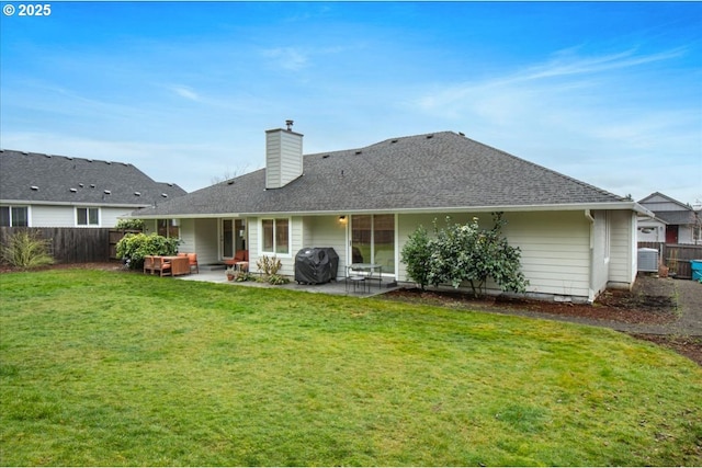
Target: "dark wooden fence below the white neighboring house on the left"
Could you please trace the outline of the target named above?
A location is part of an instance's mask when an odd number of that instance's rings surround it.
[[[0,244],[18,230],[36,232],[49,240],[49,253],[56,263],[109,262],[110,228],[14,228],[0,227]]]

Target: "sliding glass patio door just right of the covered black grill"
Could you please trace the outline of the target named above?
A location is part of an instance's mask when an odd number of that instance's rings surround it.
[[[377,263],[395,275],[395,215],[351,216],[351,262]]]

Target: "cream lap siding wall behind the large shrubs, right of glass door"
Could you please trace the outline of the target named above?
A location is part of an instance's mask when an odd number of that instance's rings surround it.
[[[467,222],[472,214],[455,214],[456,222]],[[492,226],[487,213],[476,214],[480,228]],[[445,226],[444,215],[400,215],[400,251],[407,237],[423,225],[433,232],[433,220]],[[508,242],[521,250],[522,272],[530,282],[530,293],[587,297],[590,275],[590,226],[582,212],[506,213],[503,229]],[[407,265],[399,265],[400,281],[409,281]]]

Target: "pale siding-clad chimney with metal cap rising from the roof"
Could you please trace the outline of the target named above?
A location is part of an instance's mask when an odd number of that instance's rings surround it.
[[[303,135],[286,129],[265,130],[265,189],[280,189],[303,174]]]

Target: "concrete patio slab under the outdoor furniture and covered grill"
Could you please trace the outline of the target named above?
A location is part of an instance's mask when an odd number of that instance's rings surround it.
[[[295,281],[291,279],[290,283],[284,285],[270,285],[268,283],[259,283],[256,281],[248,282],[230,282],[227,281],[227,276],[225,275],[225,270],[217,265],[205,265],[201,266],[200,273],[192,273],[190,275],[183,276],[174,276],[176,279],[179,281],[199,281],[199,282],[207,282],[207,283],[222,283],[229,284],[234,287],[268,287],[268,288],[279,288],[279,289],[291,289],[291,290],[304,290],[306,293],[321,293],[321,294],[331,294],[337,296],[353,296],[353,297],[372,297],[381,294],[385,294],[393,289],[397,289],[399,286],[396,282],[389,282],[388,279],[384,279],[382,284],[378,283],[376,278],[374,278],[370,284],[364,285],[365,287],[356,286],[353,287],[353,284],[347,284],[344,278],[340,278],[339,281],[332,281],[325,284],[297,284]],[[370,286],[370,288],[369,288]]]

